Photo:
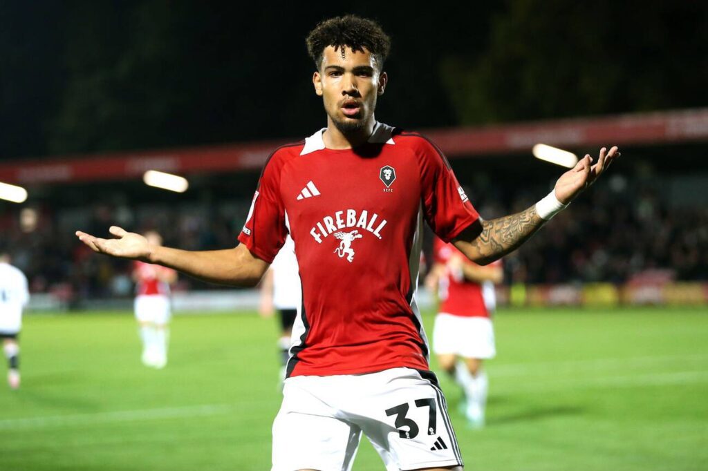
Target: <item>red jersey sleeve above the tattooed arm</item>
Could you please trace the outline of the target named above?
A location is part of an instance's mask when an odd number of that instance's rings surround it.
[[[479,214],[457,182],[445,155],[422,136],[419,141],[424,214],[433,232],[448,243],[479,219]]]

